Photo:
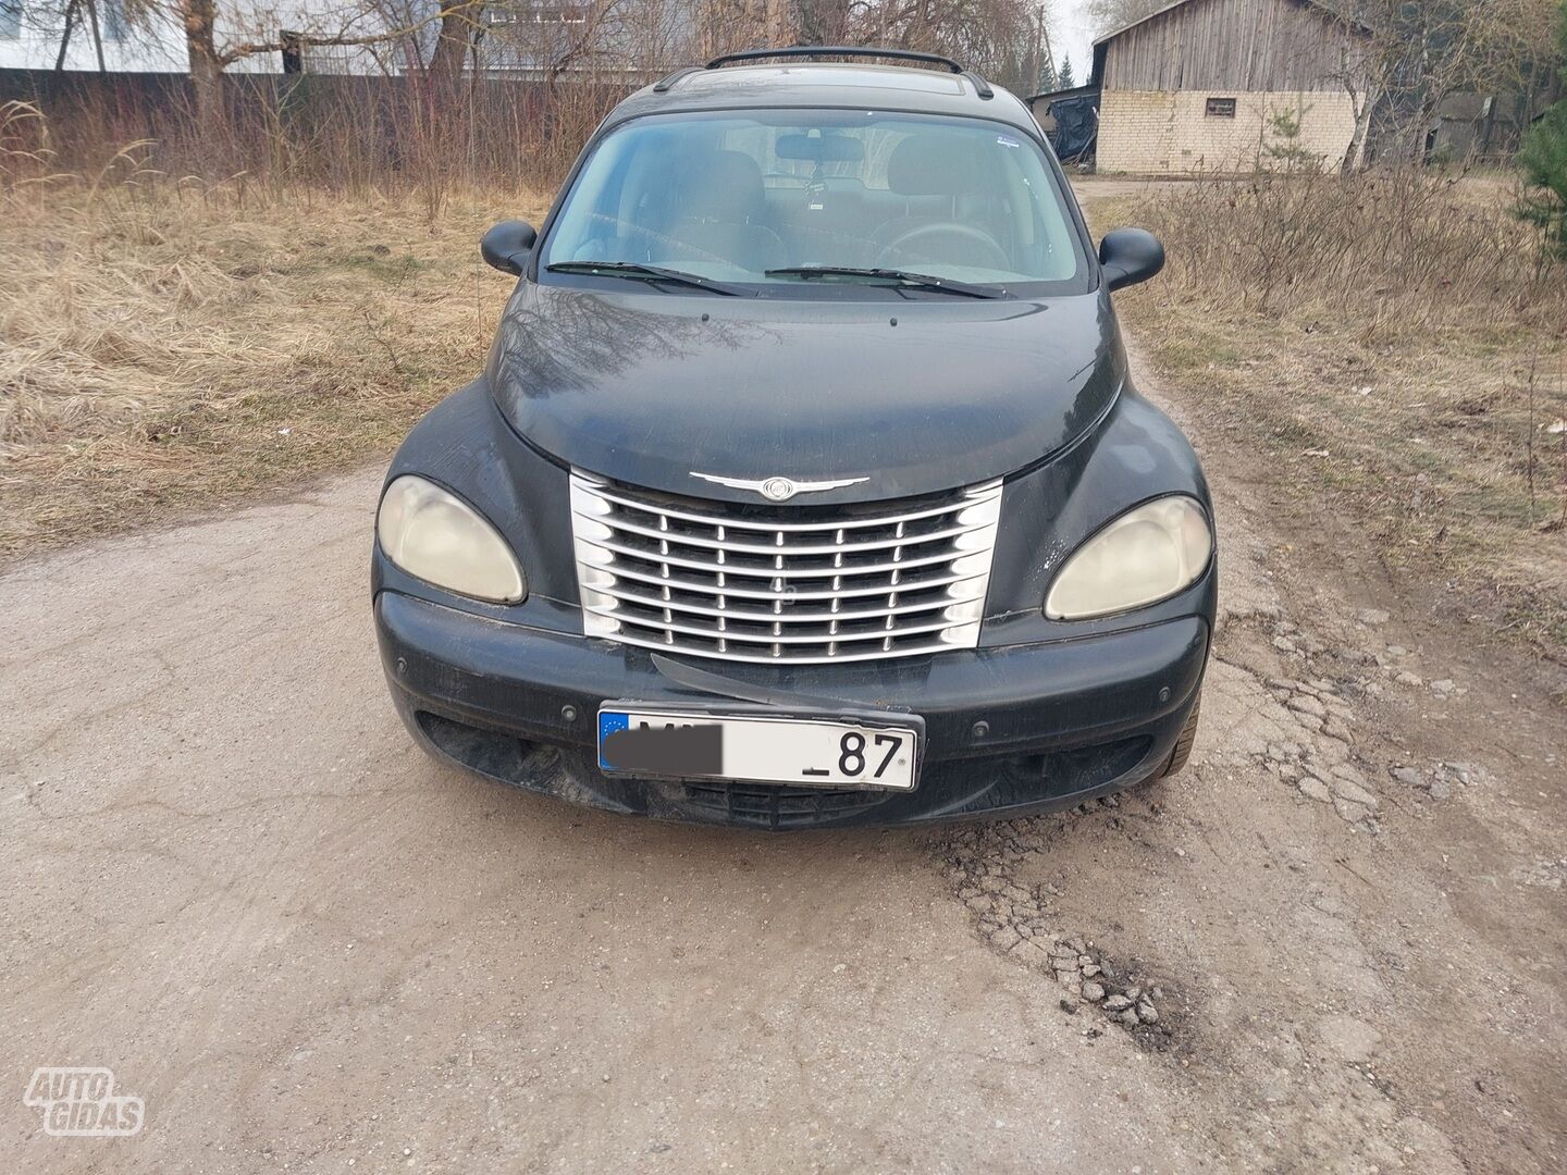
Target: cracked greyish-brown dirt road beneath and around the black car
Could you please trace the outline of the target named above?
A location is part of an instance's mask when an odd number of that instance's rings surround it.
[[[375,470],[11,572],[0,1166],[1561,1170],[1561,708],[1175,407],[1225,573],[1194,768],[1009,826],[763,838],[432,765]],[[39,1065],[144,1128],[47,1136]]]

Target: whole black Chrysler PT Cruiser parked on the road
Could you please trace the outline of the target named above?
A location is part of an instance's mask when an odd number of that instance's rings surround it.
[[[1139,230],[1014,96],[796,49],[622,102],[484,374],[409,434],[373,562],[442,760],[762,829],[1017,816],[1182,768],[1213,511],[1127,370]],[[934,66],[934,67],[929,67]]]

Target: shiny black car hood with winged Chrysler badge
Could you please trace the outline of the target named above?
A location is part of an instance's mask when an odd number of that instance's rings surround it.
[[[1103,296],[832,301],[523,282],[489,362],[501,412],[577,468],[758,501],[694,478],[851,481],[870,501],[1031,465],[1091,429],[1125,363]]]

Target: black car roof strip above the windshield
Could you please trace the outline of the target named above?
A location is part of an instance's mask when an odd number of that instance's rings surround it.
[[[972,74],[820,61],[691,69],[627,97],[606,125],[677,111],[826,107],[965,114],[1040,135],[1034,116],[1014,94],[986,86],[990,97],[983,97],[981,85]]]

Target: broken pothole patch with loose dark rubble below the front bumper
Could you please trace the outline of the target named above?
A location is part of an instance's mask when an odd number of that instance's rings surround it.
[[[1113,959],[1092,938],[1062,927],[1053,909],[1061,891],[1050,882],[1023,880],[1030,863],[1044,855],[1064,822],[1117,807],[1119,801],[1108,796],[1066,816],[961,829],[940,848],[948,882],[993,951],[1053,982],[1061,992],[1062,1012],[1094,1015],[1131,1032],[1144,1048],[1166,1050],[1182,1018],[1171,984],[1144,974],[1136,964]],[[1109,819],[1119,824],[1119,816]],[[1097,1026],[1087,1029],[1091,1036],[1098,1031]]]

